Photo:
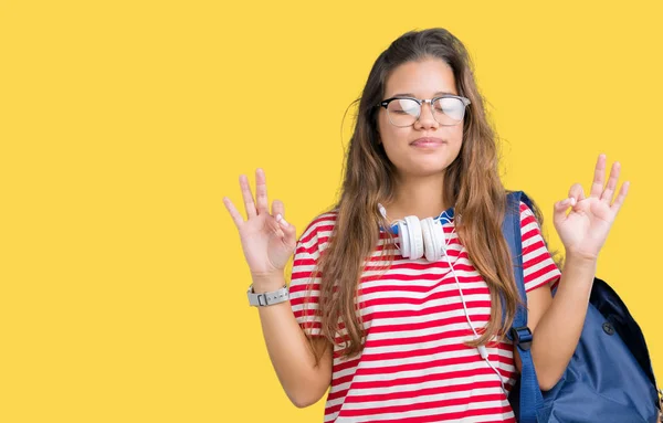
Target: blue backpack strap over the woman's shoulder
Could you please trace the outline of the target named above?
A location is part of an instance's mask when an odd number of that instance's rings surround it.
[[[513,326],[507,338],[516,345],[523,362],[520,371],[519,417],[522,423],[536,423],[536,411],[544,405],[544,396],[539,389],[538,380],[532,360],[532,331],[527,327],[527,294],[523,276],[523,240],[520,236],[520,201],[532,208],[532,201],[522,191],[507,194],[506,213],[502,224],[502,232],[508,244],[516,285],[524,305],[518,305]]]

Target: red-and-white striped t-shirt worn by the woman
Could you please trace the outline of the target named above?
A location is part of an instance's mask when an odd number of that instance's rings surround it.
[[[319,277],[312,298],[304,297],[308,282],[336,220],[336,211],[315,219],[297,242],[291,278],[291,305],[299,326],[320,335],[315,316]],[[532,210],[520,203],[523,263],[527,292],[559,278],[559,269],[544,244]],[[460,244],[453,221],[443,223],[446,252],[461,284],[473,326],[486,326],[491,297],[486,283]],[[366,338],[364,351],[351,359],[335,346],[332,387],[325,422],[515,422],[514,413],[493,369],[476,348],[464,341],[472,330],[466,321],[455,278],[445,258],[439,262],[403,258],[392,266],[376,261],[387,241],[380,241],[372,260],[365,262],[359,298]],[[400,245],[400,240],[397,237]],[[319,276],[319,275],[317,275]],[[488,345],[491,363],[507,389],[515,383],[513,345],[505,339]]]

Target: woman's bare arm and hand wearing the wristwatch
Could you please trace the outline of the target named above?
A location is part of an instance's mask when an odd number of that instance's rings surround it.
[[[255,180],[254,200],[246,177],[240,177],[246,221],[230,199],[224,198],[223,202],[240,233],[244,257],[253,278],[253,290],[265,293],[285,285],[284,268],[296,246],[296,231],[283,219],[285,210],[281,201],[272,203],[270,213],[262,169],[256,170]],[[291,287],[296,279],[292,278]],[[319,366],[316,366],[314,351],[309,348],[290,302],[260,307],[259,313],[270,359],[285,393],[297,406],[317,402],[332,379],[332,348],[326,338],[320,337],[314,341],[314,349],[323,353]]]

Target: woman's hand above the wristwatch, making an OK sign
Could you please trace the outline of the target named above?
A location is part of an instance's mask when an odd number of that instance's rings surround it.
[[[229,198],[224,197],[223,203],[240,232],[242,250],[251,276],[255,281],[276,274],[283,275],[296,245],[295,228],[283,219],[285,213],[283,202],[274,200],[270,214],[267,184],[262,169],[255,170],[255,201],[244,175],[240,176],[240,188],[246,210],[246,221]]]

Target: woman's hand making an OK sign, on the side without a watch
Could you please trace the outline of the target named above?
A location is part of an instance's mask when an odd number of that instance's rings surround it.
[[[564,243],[567,256],[573,255],[588,260],[597,260],[606,243],[612,222],[629,192],[629,182],[621,186],[614,197],[619,179],[620,165],[615,161],[606,183],[606,156],[597,160],[591,192],[585,198],[582,186],[576,183],[569,190],[569,198],[555,203],[555,229]],[[571,211],[567,214],[568,208]]]

